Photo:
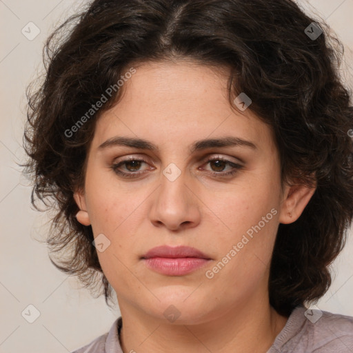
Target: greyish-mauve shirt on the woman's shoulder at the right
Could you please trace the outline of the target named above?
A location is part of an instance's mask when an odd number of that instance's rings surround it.
[[[272,347],[283,353],[353,352],[353,317],[296,307]]]

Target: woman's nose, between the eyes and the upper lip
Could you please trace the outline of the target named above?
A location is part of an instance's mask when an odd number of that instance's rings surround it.
[[[172,175],[174,172],[168,174],[166,168],[161,175],[161,185],[153,193],[150,221],[156,227],[164,226],[173,231],[194,228],[201,220],[197,191],[193,190],[194,183],[185,177],[185,172],[177,179]]]

